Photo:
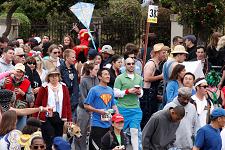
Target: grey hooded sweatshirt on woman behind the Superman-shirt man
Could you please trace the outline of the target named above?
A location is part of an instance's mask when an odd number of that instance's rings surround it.
[[[98,84],[99,80],[97,77],[83,76],[81,78],[79,106],[83,108],[83,103],[88,95],[89,90]]]

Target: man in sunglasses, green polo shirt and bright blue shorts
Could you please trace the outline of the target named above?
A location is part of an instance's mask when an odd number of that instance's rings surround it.
[[[138,132],[142,120],[139,98],[143,95],[143,79],[134,72],[135,62],[132,58],[125,60],[126,72],[117,76],[114,83],[115,97],[118,97],[118,110],[124,117],[124,130],[130,129],[133,150],[138,150]]]

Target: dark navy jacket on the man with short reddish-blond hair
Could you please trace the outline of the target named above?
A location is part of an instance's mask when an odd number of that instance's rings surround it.
[[[69,77],[69,70],[66,67],[65,61],[60,60],[59,71],[61,73],[62,82],[66,84],[70,93],[70,103],[72,108],[78,104],[79,99],[79,83],[78,83],[78,74],[74,65],[70,66],[70,71],[73,73],[73,79]]]

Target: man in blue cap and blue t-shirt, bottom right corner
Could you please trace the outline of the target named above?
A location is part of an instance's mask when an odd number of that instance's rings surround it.
[[[215,108],[211,114],[211,123],[197,132],[193,150],[221,150],[220,128],[225,126],[225,110]]]

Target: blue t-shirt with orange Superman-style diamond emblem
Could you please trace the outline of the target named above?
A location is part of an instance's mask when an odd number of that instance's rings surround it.
[[[115,105],[113,89],[109,86],[94,86],[88,92],[88,96],[84,103],[91,105],[95,109],[112,109],[112,106]],[[101,115],[93,112],[91,126],[109,128],[111,126],[111,122],[101,121]]]

